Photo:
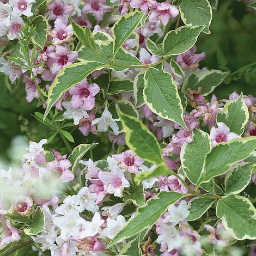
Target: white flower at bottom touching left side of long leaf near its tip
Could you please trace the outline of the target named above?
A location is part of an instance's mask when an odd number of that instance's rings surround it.
[[[113,218],[107,218],[107,227],[102,230],[101,236],[106,236],[109,239],[113,239],[119,229],[125,224],[125,218],[122,215],[118,215],[116,220]]]

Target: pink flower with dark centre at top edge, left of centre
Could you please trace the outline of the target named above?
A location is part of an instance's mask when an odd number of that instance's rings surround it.
[[[55,20],[58,17],[63,18],[64,15],[71,15],[74,8],[68,4],[62,2],[62,0],[54,0],[51,4],[47,5],[47,8],[51,11],[50,20]]]

